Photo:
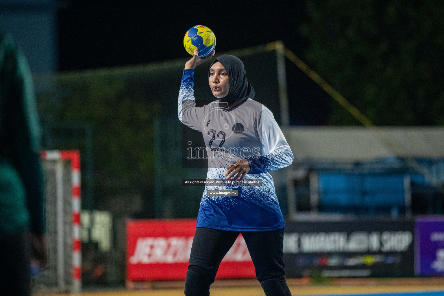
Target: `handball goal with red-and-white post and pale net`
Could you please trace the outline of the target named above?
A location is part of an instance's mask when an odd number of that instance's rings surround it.
[[[81,290],[80,157],[78,151],[43,151],[48,265],[32,292]]]

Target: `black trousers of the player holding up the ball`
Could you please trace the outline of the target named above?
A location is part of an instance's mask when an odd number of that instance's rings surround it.
[[[198,227],[191,246],[190,264],[186,272],[185,295],[208,296],[210,285],[223,257],[239,236],[237,231]],[[256,278],[266,296],[291,296],[285,282],[282,246],[283,229],[275,231],[243,231]]]

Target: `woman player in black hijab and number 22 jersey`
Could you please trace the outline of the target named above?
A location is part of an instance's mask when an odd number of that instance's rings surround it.
[[[293,153],[272,112],[253,100],[255,92],[246,78],[244,64],[233,55],[221,55],[211,63],[208,82],[218,100],[196,107],[194,68],[214,53],[199,58],[196,50],[186,62],[178,118],[202,132],[208,156],[207,179],[234,184],[205,186],[186,272],[185,295],[210,294],[219,264],[242,233],[266,296],[291,296],[282,260],[284,219],[268,172],[289,166]],[[235,183],[251,179],[262,179],[262,185]],[[208,190],[233,193],[214,196]]]

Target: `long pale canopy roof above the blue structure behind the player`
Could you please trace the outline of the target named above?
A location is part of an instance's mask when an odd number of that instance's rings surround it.
[[[294,160],[444,158],[444,127],[283,127]]]

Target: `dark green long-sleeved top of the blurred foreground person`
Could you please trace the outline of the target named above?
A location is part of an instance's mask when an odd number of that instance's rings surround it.
[[[40,130],[31,72],[0,32],[0,237],[44,232]]]

